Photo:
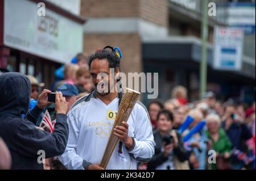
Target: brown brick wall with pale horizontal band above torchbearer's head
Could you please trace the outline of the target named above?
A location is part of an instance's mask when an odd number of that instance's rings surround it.
[[[167,0],[81,1],[81,16],[88,19],[84,33],[85,53],[93,53],[97,48],[103,48],[106,45],[118,46],[123,53],[122,71],[124,73],[142,72],[141,29],[144,27],[141,26],[140,21],[167,28],[167,2]],[[122,21],[127,24],[119,23]],[[88,27],[96,30],[88,31],[86,30]]]

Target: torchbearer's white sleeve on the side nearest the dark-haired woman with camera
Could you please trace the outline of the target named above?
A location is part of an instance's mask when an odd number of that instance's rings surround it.
[[[148,162],[155,153],[155,141],[150,118],[144,107],[135,110],[134,147],[128,150],[140,162]]]

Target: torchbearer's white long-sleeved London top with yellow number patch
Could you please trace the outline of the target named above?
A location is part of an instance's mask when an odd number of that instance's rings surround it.
[[[118,100],[115,98],[106,105],[94,92],[77,100],[68,112],[68,144],[60,156],[68,169],[83,169],[83,160],[101,162],[118,111]],[[148,162],[154,155],[152,127],[142,103],[135,104],[127,123],[129,136],[134,138],[134,148],[128,151],[123,144],[122,154],[118,154],[118,142],[106,169],[137,169],[136,160]]]

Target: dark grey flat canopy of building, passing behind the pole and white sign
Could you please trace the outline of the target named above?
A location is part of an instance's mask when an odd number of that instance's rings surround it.
[[[143,37],[143,60],[145,61],[179,61],[179,62],[197,62],[201,59],[201,41],[191,36],[175,37]],[[213,46],[207,45],[208,66],[213,69]],[[255,60],[250,57],[242,57],[242,69],[240,71],[216,70],[229,72],[237,75],[255,79]]]

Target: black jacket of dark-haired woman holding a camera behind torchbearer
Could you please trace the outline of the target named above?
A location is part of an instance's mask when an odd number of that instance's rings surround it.
[[[157,166],[162,165],[162,163],[166,162],[168,159],[167,157],[164,157],[163,151],[161,151],[161,148],[163,146],[163,137],[160,134],[159,130],[156,129],[153,134],[155,140],[155,155],[147,163],[148,170],[155,170]],[[184,162],[187,159],[187,151],[183,146],[183,140],[180,133],[176,132],[176,134],[179,144],[177,148],[174,148],[174,156],[177,157],[177,159],[179,159],[180,162]]]

